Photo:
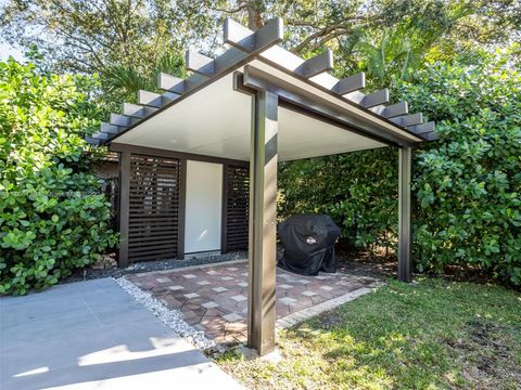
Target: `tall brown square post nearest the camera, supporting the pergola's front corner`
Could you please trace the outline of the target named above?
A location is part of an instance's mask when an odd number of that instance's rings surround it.
[[[247,344],[264,355],[275,349],[277,94],[258,91],[252,108]]]

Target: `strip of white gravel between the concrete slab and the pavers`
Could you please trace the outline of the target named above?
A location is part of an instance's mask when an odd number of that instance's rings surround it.
[[[188,325],[185,320],[182,320],[182,314],[179,311],[168,309],[161,301],[153,298],[152,294],[143,291],[125,277],[114,278],[114,281],[123,290],[136,299],[136,301],[150,310],[161,322],[194,347],[205,350],[216,346],[214,340],[204,336],[204,332],[200,332]]]

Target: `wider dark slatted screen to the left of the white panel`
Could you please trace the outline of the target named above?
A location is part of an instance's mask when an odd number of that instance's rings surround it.
[[[180,161],[132,154],[128,260],[177,257]]]

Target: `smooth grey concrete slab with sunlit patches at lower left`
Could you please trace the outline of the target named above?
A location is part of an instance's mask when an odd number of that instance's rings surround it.
[[[112,278],[0,299],[0,388],[239,389]]]

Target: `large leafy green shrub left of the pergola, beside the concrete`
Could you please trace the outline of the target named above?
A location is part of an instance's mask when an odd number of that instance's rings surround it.
[[[82,155],[98,115],[82,92],[91,87],[0,63],[0,294],[53,285],[115,244]]]

